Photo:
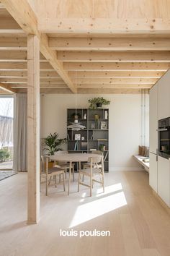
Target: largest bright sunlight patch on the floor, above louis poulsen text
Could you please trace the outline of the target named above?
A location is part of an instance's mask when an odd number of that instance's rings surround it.
[[[104,196],[92,202],[84,203],[76,209],[76,213],[69,227],[73,228],[74,226],[102,216],[124,205],[127,205],[124,192],[117,192],[113,195]]]

